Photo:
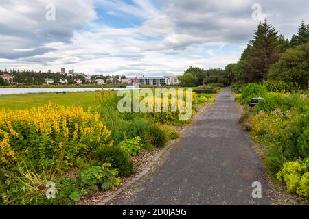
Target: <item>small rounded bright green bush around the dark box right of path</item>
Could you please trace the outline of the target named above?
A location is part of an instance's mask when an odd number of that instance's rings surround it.
[[[247,105],[250,102],[250,99],[253,97],[265,97],[267,94],[267,90],[264,86],[258,83],[251,83],[242,88],[242,96],[240,97],[240,101],[242,104]]]

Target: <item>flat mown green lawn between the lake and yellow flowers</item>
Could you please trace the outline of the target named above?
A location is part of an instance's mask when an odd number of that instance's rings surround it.
[[[95,94],[100,92],[67,92],[66,94],[39,93],[39,94],[11,94],[0,95],[0,109],[20,110],[38,107],[52,101],[59,105],[76,105],[85,110],[90,106],[92,110],[98,107]]]

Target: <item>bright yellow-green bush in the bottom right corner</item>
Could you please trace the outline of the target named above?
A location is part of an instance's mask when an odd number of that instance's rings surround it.
[[[309,197],[309,158],[304,161],[286,162],[277,173],[277,179],[284,181],[288,192]]]

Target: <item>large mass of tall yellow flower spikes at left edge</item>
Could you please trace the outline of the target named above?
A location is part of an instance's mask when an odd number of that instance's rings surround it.
[[[29,127],[35,127],[34,132],[38,139],[46,136],[49,140],[48,144],[55,144],[58,149],[65,148],[66,144],[72,145],[71,143],[74,142],[76,146],[82,147],[90,144],[91,147],[94,144],[102,145],[111,135],[111,131],[108,131],[100,121],[97,112],[92,114],[90,109],[84,112],[82,107],[65,107],[49,102],[43,107],[32,107],[27,110],[3,109],[0,110],[0,159],[2,163],[6,164],[16,159],[18,151],[14,151],[14,148],[19,148],[18,140],[33,138],[33,136],[27,136]],[[38,144],[30,140],[28,142],[33,146]]]

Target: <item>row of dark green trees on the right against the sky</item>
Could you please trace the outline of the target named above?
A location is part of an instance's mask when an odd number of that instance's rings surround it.
[[[225,69],[188,68],[179,77],[184,86],[203,83],[263,83],[266,80],[293,83],[308,88],[309,25],[304,21],[291,40],[278,34],[265,20],[259,23],[240,60]]]

